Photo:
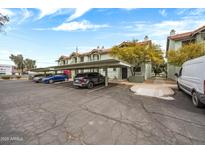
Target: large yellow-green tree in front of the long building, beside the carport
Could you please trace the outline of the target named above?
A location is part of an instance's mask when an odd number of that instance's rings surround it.
[[[111,56],[131,64],[130,71],[135,75],[134,67],[143,63],[151,62],[160,65],[164,62],[163,52],[159,45],[140,44],[135,42],[124,42],[114,46],[110,52]]]

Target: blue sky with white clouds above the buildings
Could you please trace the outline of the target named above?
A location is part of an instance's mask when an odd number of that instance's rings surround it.
[[[9,55],[23,54],[38,67],[56,65],[61,55],[78,46],[86,52],[110,48],[147,35],[165,49],[171,29],[177,33],[205,25],[205,9],[0,9],[10,17],[0,34],[0,63],[12,64]]]

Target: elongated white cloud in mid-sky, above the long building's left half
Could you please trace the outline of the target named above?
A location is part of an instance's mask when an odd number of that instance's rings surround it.
[[[57,27],[52,28],[56,31],[75,31],[75,30],[88,30],[88,29],[98,29],[98,28],[106,28],[109,27],[107,24],[97,25],[92,24],[87,20],[83,20],[81,22],[73,21],[68,23],[63,23]]]

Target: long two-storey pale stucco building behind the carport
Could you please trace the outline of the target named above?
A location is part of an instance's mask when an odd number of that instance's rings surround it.
[[[137,43],[149,45],[151,41],[143,41]],[[101,61],[101,60],[108,60],[108,59],[116,59],[110,55],[110,49],[105,49],[104,47],[101,48],[97,47],[96,49],[93,49],[86,53],[81,53],[78,50],[76,50],[69,56],[61,56],[58,59],[58,65],[61,66],[61,65],[76,64],[76,63],[86,63],[86,62]],[[152,71],[151,64],[150,63],[142,64],[140,68],[136,69],[136,71],[137,71],[136,75],[142,75],[146,80],[147,78],[151,77],[151,71]],[[72,78],[77,73],[83,73],[83,72],[99,72],[102,75],[105,75],[105,70],[103,68],[76,69],[76,70],[71,70]],[[109,79],[127,79],[129,76],[131,76],[129,67],[108,68]]]

